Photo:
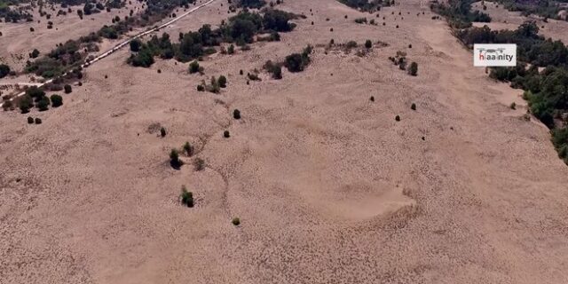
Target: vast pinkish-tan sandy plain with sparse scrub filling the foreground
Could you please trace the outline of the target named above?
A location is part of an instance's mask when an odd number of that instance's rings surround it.
[[[309,17],[280,43],[206,59],[204,76],[171,60],[129,67],[124,50],[90,67],[64,106],[33,111],[43,124],[0,114],[0,282],[568,279],[568,167],[548,130],[521,118],[519,91],[472,67],[418,1],[383,9],[376,27],[335,0],[281,9]],[[280,81],[239,75],[332,38],[390,45],[365,58],[317,47],[304,73]],[[418,76],[390,63],[396,51]],[[220,95],[195,90],[210,75],[227,75]],[[170,168],[185,141],[206,170]],[[195,208],[177,201],[181,185]]]

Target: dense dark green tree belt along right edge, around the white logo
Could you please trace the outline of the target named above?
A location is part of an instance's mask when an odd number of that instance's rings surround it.
[[[454,5],[464,3],[469,2],[452,2]],[[446,7],[444,11],[458,10]],[[455,15],[446,16],[450,22],[455,18]],[[516,30],[460,27],[462,25],[454,26],[454,35],[468,47],[474,43],[517,44],[517,67],[494,67],[490,76],[525,90],[524,98],[531,113],[551,129],[558,155],[568,164],[568,48],[561,41],[539,36],[539,27],[534,21],[526,21]],[[539,67],[544,69],[539,71]]]

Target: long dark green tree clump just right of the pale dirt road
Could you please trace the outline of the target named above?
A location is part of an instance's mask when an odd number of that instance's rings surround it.
[[[153,36],[146,43],[136,43],[134,50],[138,52],[132,53],[128,62],[135,67],[150,67],[156,56],[188,62],[217,52],[215,47],[221,43],[244,46],[253,43],[254,36],[259,33],[291,31],[295,25],[289,20],[295,17],[294,14],[272,9],[265,9],[263,15],[257,12],[239,12],[219,28],[212,29],[210,25],[203,25],[198,31],[180,35],[178,43],[172,43],[168,34]],[[130,46],[130,51],[134,50]],[[193,71],[199,72],[199,69]]]

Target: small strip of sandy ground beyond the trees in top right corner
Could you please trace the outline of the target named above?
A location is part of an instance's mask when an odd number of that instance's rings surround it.
[[[538,24],[540,30],[539,34],[545,37],[550,37],[554,40],[561,40],[564,44],[568,43],[568,21],[565,20],[551,20],[544,22],[542,17],[537,15],[531,15],[525,17],[521,15],[521,12],[509,12],[503,5],[498,5],[493,2],[485,1],[485,6],[487,10],[485,13],[491,16],[490,23],[475,23],[477,27],[487,27],[500,30],[500,29],[516,29],[519,25],[523,24],[525,20],[534,20]],[[483,11],[481,2],[477,2],[472,5],[475,10]]]

